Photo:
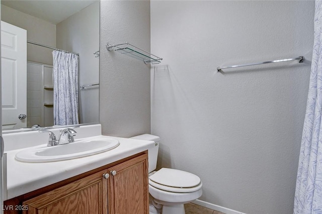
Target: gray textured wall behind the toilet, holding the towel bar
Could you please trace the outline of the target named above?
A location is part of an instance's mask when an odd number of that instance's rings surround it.
[[[292,213],[314,1],[151,1],[151,133],[158,167],[203,182],[202,201]],[[226,69],[303,55],[296,61]],[[202,203],[207,205],[207,203]]]

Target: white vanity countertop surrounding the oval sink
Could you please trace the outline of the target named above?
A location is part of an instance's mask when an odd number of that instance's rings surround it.
[[[25,163],[15,159],[23,149],[7,151],[7,199],[113,163],[154,147],[153,141],[111,137],[119,140],[115,149],[72,160]],[[6,200],[6,199],[5,199]]]

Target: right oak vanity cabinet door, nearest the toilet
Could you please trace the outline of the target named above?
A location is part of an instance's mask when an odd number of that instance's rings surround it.
[[[147,154],[108,168],[108,213],[148,214]]]

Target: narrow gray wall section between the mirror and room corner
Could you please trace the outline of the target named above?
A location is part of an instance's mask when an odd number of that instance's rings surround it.
[[[104,135],[150,133],[150,65],[106,50],[129,42],[150,51],[150,2],[101,1],[100,123]]]

